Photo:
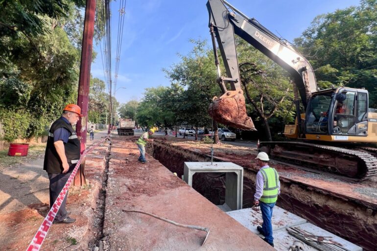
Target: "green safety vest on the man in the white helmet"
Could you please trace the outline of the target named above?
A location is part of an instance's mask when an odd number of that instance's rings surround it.
[[[279,175],[275,168],[260,169],[260,173],[264,178],[263,194],[259,201],[263,203],[275,203],[278,200],[279,191]]]

